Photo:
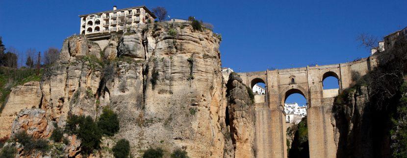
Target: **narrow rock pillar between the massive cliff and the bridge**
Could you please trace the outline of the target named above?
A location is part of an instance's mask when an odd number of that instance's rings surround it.
[[[254,158],[254,105],[246,85],[230,73],[227,86],[229,126],[235,158]]]

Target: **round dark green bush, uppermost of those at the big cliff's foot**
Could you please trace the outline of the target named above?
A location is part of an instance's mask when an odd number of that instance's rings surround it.
[[[119,119],[117,114],[110,109],[103,109],[103,113],[99,117],[98,127],[102,134],[113,136],[119,131]]]

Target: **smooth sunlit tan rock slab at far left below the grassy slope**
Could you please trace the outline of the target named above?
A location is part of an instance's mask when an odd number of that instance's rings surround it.
[[[39,108],[41,96],[39,82],[27,82],[23,86],[12,88],[0,114],[0,137],[11,134],[11,124],[22,109]]]

